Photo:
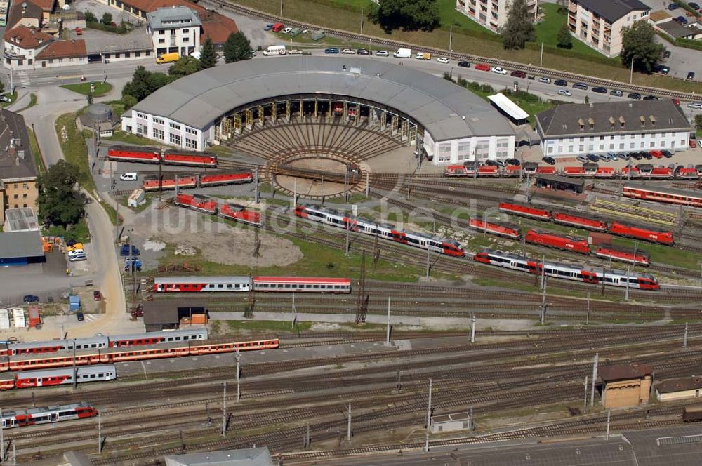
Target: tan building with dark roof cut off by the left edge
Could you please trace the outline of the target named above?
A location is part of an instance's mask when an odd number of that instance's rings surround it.
[[[37,211],[37,166],[22,115],[0,109],[0,225],[6,208]]]

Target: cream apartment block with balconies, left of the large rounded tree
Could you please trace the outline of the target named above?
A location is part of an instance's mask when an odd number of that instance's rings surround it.
[[[639,0],[569,0],[571,34],[608,57],[621,53],[621,29],[648,20],[651,8]]]

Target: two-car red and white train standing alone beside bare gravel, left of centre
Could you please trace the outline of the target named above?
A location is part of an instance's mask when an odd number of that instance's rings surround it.
[[[351,280],[326,277],[156,277],[156,293],[237,291],[351,293]]]

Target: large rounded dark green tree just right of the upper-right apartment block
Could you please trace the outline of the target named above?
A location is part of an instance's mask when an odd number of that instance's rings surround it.
[[[656,44],[654,27],[640,20],[630,27],[621,28],[621,62],[630,67],[633,61],[634,69],[650,73],[663,58],[665,47]]]

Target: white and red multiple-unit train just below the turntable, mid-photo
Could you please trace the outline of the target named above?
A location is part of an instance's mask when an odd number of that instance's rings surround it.
[[[295,215],[314,222],[324,223],[333,227],[349,229],[352,232],[359,232],[377,236],[380,239],[388,239],[396,243],[407,244],[416,248],[429,249],[435,253],[453,255],[462,258],[465,251],[458,242],[451,239],[430,237],[426,234],[406,232],[402,229],[395,229],[392,225],[373,223],[368,220],[350,218],[343,213],[331,209],[303,204],[295,208]]]

